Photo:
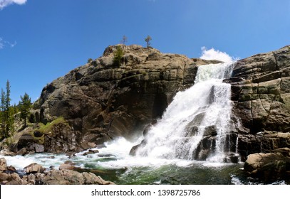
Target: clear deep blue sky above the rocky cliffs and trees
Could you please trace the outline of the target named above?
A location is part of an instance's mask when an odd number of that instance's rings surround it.
[[[150,35],[162,53],[247,58],[290,44],[290,1],[0,0],[0,87],[35,100],[123,35],[143,46]]]

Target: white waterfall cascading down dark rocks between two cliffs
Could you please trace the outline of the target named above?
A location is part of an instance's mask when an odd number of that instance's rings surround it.
[[[136,156],[222,161],[231,131],[230,77],[234,63],[201,65],[195,85],[177,92]]]

